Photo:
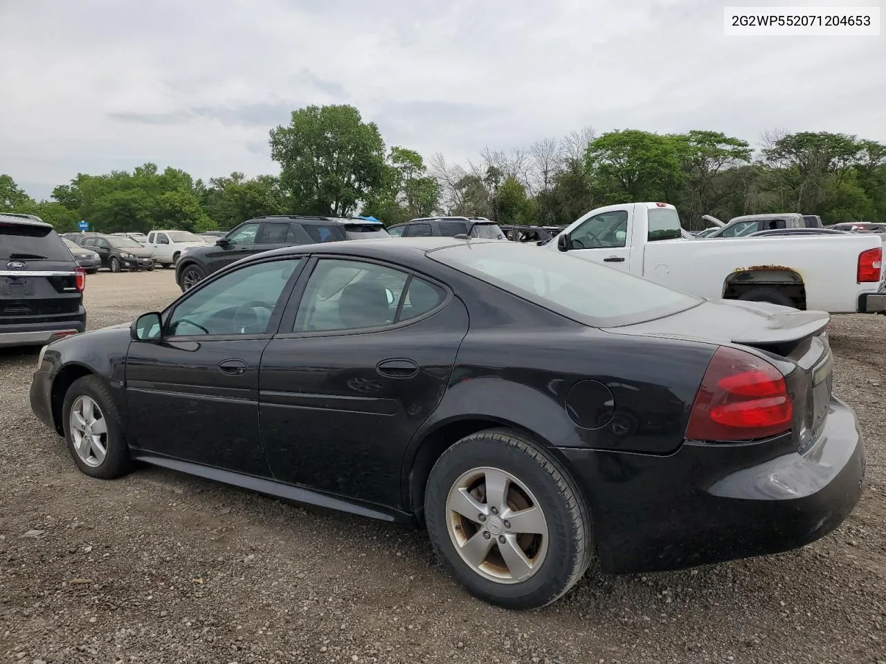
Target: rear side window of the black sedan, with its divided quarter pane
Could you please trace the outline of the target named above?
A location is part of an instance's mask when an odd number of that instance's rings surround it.
[[[392,267],[321,259],[307,281],[292,331],[384,327],[431,311],[444,295],[436,286]]]

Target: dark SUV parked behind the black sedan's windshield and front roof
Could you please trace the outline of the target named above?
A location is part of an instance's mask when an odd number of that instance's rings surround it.
[[[296,214],[257,217],[244,221],[215,244],[183,250],[175,264],[175,282],[188,290],[207,274],[260,251],[387,236],[380,221]]]

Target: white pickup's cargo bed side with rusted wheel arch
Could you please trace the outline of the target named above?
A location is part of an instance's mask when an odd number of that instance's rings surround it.
[[[700,297],[723,297],[727,276],[754,266],[785,267],[803,278],[806,308],[855,312],[859,295],[879,288],[856,282],[859,253],[882,246],[879,238],[810,235],[667,240],[646,245],[643,276]]]

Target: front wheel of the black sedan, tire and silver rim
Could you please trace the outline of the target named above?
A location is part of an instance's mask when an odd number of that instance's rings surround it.
[[[104,382],[94,375],[74,381],[65,395],[62,417],[68,450],[82,473],[103,480],[128,473],[129,447]]]

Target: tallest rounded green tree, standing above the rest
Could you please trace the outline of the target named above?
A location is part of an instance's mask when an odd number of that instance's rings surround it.
[[[307,106],[270,131],[271,158],[299,212],[347,216],[385,184],[385,142],[349,105]]]

